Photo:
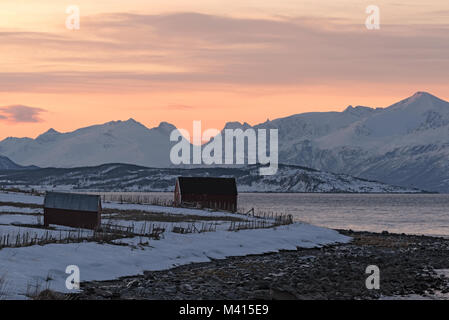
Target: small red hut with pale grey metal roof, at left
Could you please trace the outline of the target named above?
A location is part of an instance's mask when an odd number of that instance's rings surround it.
[[[98,195],[47,192],[44,224],[97,229],[101,225],[101,199]]]

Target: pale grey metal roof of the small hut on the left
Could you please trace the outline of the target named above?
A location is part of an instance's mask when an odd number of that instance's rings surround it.
[[[44,208],[97,212],[101,208],[98,195],[47,192]]]

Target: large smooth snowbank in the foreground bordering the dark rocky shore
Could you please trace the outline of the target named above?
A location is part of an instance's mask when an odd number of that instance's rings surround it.
[[[167,233],[165,239],[153,240],[151,247],[141,249],[93,242],[5,248],[0,250],[0,274],[7,281],[7,298],[23,299],[28,285],[36,281],[45,283],[47,277],[53,279],[51,289],[67,292],[65,270],[69,265],[80,268],[81,281],[108,280],[141,274],[144,270],[206,262],[210,258],[312,248],[347,241],[348,237],[334,230],[295,223],[276,229],[238,232]]]

